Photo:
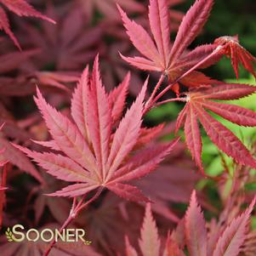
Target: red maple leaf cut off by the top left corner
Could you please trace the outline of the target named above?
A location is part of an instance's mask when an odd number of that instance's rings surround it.
[[[14,12],[14,14],[17,14],[19,16],[33,16],[55,23],[54,20],[49,19],[47,16],[41,14],[36,9],[34,9],[29,3],[26,2],[26,0],[1,0],[0,3],[2,3],[10,11]],[[0,7],[0,29],[5,31],[13,40],[14,44],[18,48],[20,48],[20,43],[14,36],[14,33],[11,31],[9,26],[9,19],[2,7]]]

